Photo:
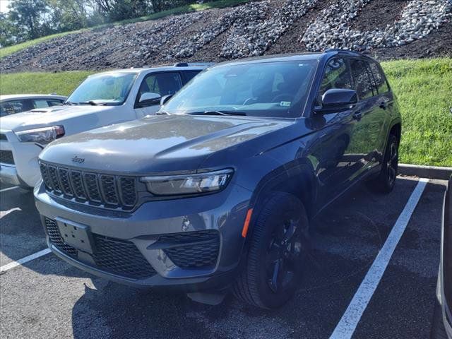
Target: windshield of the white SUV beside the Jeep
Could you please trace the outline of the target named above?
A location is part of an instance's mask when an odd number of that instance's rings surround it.
[[[122,105],[136,73],[107,73],[86,78],[66,102],[73,104]]]

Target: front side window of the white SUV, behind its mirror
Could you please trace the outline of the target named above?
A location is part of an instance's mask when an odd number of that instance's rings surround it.
[[[181,87],[181,76],[177,72],[150,74],[141,83],[140,95],[146,92],[158,93],[161,96],[175,94]]]

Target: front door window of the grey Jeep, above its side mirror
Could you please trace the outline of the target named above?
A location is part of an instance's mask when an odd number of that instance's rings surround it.
[[[331,90],[331,88],[352,89],[350,70],[345,59],[331,59],[326,64],[319,95],[323,95],[323,93]]]

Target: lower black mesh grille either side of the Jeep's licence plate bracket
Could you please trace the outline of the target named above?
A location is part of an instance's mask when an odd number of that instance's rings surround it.
[[[57,222],[44,218],[44,224],[50,242],[64,254],[76,259],[78,250],[64,243]],[[95,266],[92,266],[93,268],[132,279],[143,279],[155,275],[154,268],[132,242],[99,234],[93,234],[93,238],[95,242],[93,254]]]

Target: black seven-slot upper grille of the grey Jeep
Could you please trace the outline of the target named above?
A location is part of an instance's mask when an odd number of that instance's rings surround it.
[[[94,206],[131,210],[137,201],[136,178],[83,172],[40,162],[47,191]]]

